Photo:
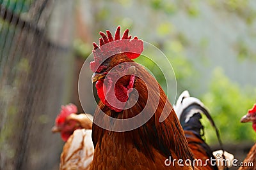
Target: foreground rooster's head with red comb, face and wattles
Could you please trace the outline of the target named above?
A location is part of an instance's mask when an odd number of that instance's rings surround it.
[[[120,38],[120,26],[115,37],[110,31],[100,32],[99,46],[93,43],[94,61],[92,82],[96,82],[97,94],[108,108],[116,112],[124,110],[129,94],[134,88],[136,59],[143,51],[143,41],[128,35],[129,29]]]

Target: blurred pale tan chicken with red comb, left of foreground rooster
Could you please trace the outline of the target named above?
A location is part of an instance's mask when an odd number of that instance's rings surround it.
[[[65,141],[60,157],[60,170],[89,169],[93,158],[92,115],[77,113],[74,104],[61,106],[52,132],[60,132]]]

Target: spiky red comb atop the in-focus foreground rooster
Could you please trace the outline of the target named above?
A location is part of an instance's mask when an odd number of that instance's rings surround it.
[[[136,59],[143,52],[143,41],[138,39],[137,36],[131,39],[132,36],[128,36],[129,29],[125,29],[122,38],[120,38],[120,29],[121,27],[118,26],[114,38],[108,30],[106,31],[107,35],[104,32],[99,32],[102,36],[99,39],[100,46],[93,43],[94,61],[90,62],[90,69],[93,72],[97,71],[104,60],[117,53],[125,53],[129,59]]]

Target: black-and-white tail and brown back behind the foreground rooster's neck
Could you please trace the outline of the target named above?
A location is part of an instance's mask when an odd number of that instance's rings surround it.
[[[205,143],[204,137],[204,126],[201,124],[200,119],[202,118],[202,113],[206,115],[206,117],[211,122],[212,126],[216,128],[211,115],[209,115],[209,111],[205,108],[204,103],[195,97],[190,97],[188,90],[185,90],[180,94],[177,103],[173,106],[175,112],[177,113],[177,117],[180,120],[180,124],[184,130],[186,139],[188,141],[189,148],[195,155],[196,159],[202,160],[214,160],[211,164],[207,164],[204,169],[224,169],[221,166],[221,157],[216,156],[216,154],[222,155],[223,150],[218,150],[212,153],[211,148],[207,143]],[[218,134],[218,129],[217,136]],[[220,142],[221,143],[221,142]],[[221,146],[222,147],[222,146]],[[234,156],[228,152],[224,152],[225,159],[233,160]],[[215,160],[218,160],[216,162]],[[228,167],[231,164],[227,165]]]

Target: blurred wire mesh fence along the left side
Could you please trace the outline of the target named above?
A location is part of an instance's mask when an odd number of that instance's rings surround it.
[[[71,8],[68,0],[0,0],[0,169],[58,166],[51,125],[70,96]]]

